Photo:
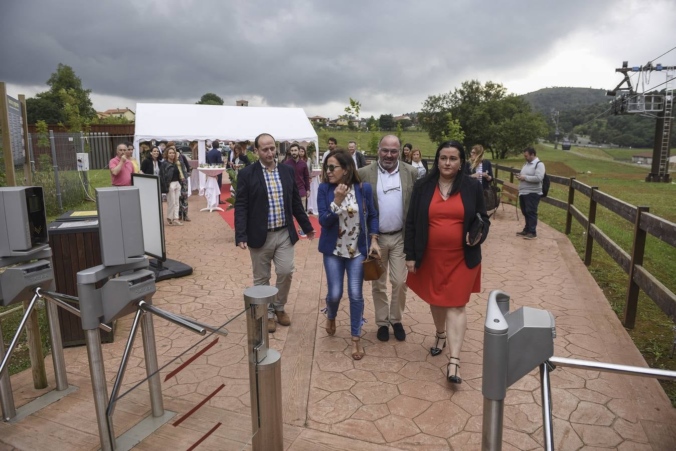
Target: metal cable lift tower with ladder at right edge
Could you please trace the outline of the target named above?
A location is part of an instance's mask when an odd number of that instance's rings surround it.
[[[669,153],[671,149],[671,128],[673,126],[673,88],[676,66],[662,66],[648,61],[646,65],[628,67],[623,61],[622,67],[615,72],[624,74],[623,80],[607,95],[615,96],[611,102],[614,114],[640,114],[655,117],[655,140],[652,148],[652,166],[646,182],[671,182],[669,174]],[[630,72],[662,72],[667,75],[665,93],[644,94],[635,92],[631,85]],[[623,86],[626,84],[627,86]],[[618,92],[619,91],[619,92]]]

